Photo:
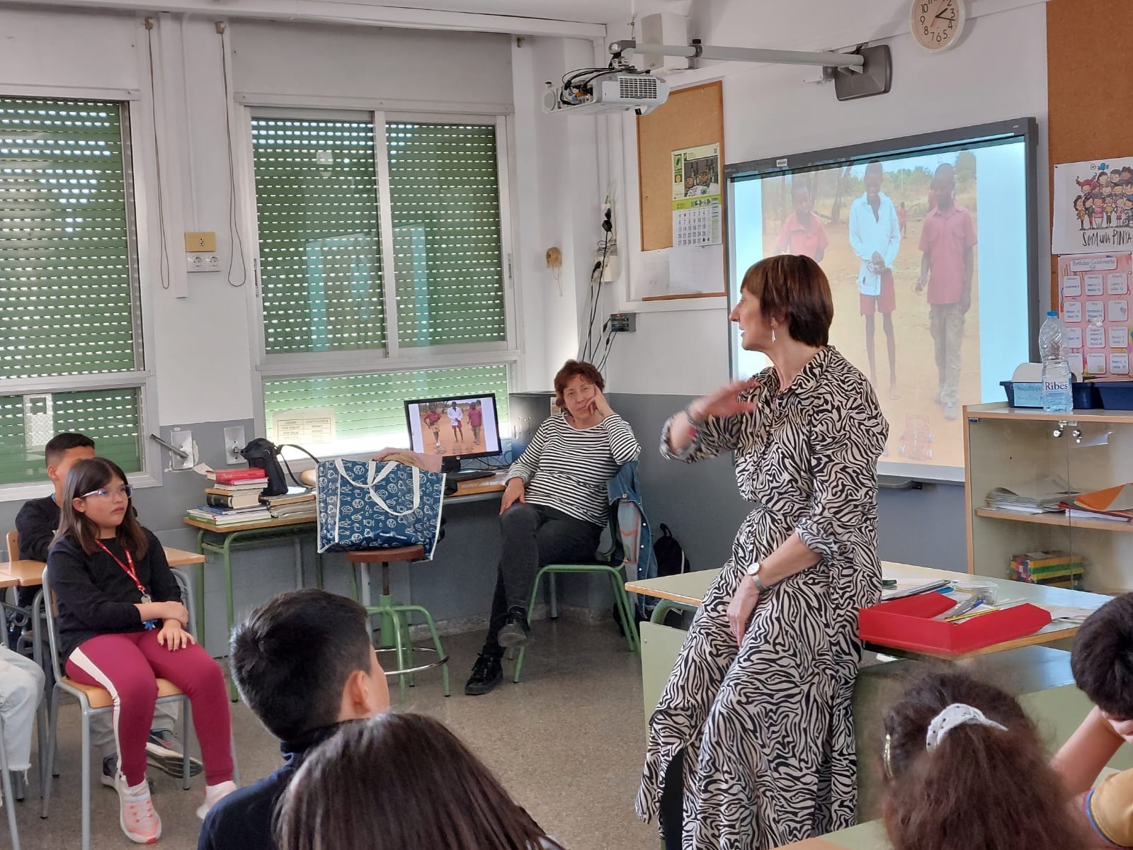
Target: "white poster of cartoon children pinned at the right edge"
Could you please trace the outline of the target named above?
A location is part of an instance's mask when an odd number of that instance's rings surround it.
[[[1133,156],[1055,165],[1054,254],[1133,246]]]

